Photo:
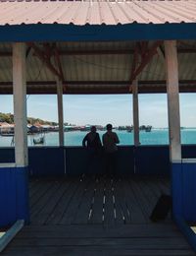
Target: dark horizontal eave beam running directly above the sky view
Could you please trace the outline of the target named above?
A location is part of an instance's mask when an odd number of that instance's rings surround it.
[[[66,94],[128,94],[129,81],[64,81]],[[166,93],[166,81],[139,81],[139,94]],[[56,81],[27,81],[27,94],[56,94]],[[87,87],[82,87],[83,85]],[[92,87],[93,86],[93,87]],[[95,86],[95,87],[94,87]],[[179,80],[181,93],[196,93],[196,80]],[[0,95],[13,94],[13,83],[0,82]]]

